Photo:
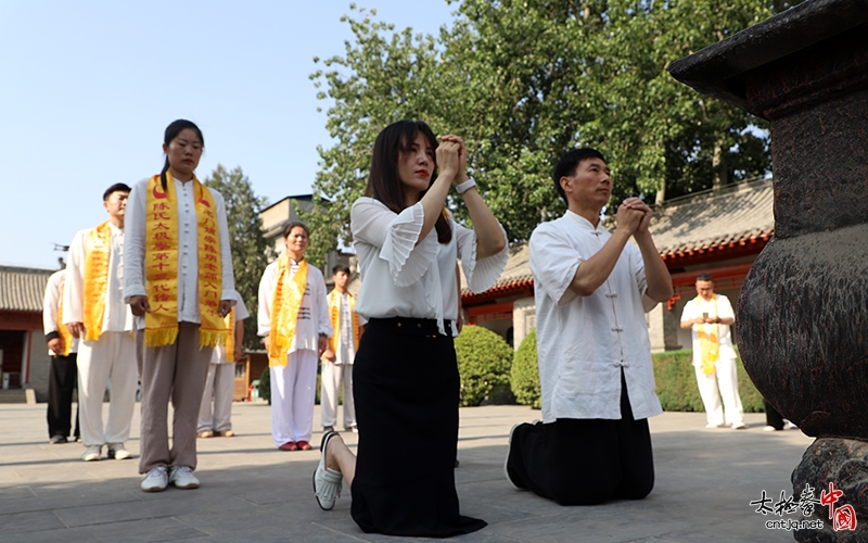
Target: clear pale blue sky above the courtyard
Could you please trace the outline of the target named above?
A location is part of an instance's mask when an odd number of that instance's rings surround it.
[[[371,0],[397,29],[450,25],[445,0]],[[163,165],[176,118],[202,128],[197,175],[241,166],[273,203],[309,193],[328,103],[312,58],[343,54],[349,1],[0,0],[0,264],[56,268],[102,193]],[[322,108],[321,113],[317,108]]]

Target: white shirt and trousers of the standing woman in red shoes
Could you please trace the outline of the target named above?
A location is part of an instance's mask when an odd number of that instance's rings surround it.
[[[280,261],[265,268],[259,281],[258,336],[271,331],[271,302],[277,287]],[[299,263],[291,261],[286,282],[298,270]],[[298,308],[295,336],[292,339],[285,366],[271,366],[271,434],[278,446],[310,441],[314,434],[314,403],[317,399],[317,362],[319,334],[334,333],[326,305],[326,280],[322,272],[307,266],[307,286]]]

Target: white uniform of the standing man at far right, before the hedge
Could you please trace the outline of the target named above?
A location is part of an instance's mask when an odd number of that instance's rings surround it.
[[[732,305],[723,294],[714,294],[707,302],[702,296],[697,296],[687,302],[681,313],[681,323],[695,320],[703,313],[709,317],[736,318]],[[702,370],[702,346],[699,340],[699,329],[703,328],[706,336],[717,327],[717,362],[714,363],[714,372],[705,374]],[[739,396],[739,381],[736,372],[736,350],[732,348],[732,336],[728,325],[697,325],[691,328],[693,336],[693,369],[697,372],[699,395],[705,406],[705,417],[709,425],[742,425],[744,424],[744,409]],[[719,388],[719,394],[718,394]],[[720,405],[720,396],[724,399]]]

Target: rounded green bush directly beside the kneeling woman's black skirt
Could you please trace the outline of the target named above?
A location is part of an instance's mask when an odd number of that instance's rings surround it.
[[[503,338],[481,326],[464,326],[455,340],[455,352],[462,406],[480,405],[508,391],[512,348]]]

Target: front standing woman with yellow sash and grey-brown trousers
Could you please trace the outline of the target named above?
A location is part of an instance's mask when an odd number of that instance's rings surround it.
[[[202,131],[166,128],[163,172],[137,182],[127,204],[124,291],[137,317],[141,378],[141,489],[199,488],[196,424],[212,351],[226,343],[224,317],[235,283],[222,195],[195,168]],[[167,404],[175,409],[168,446]]]

